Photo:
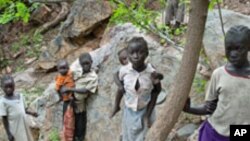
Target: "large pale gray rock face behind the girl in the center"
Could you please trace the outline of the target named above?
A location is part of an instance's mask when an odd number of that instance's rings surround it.
[[[105,32],[101,47],[90,52],[93,58],[93,67],[98,68],[98,92],[88,98],[87,102],[87,135],[86,141],[115,141],[119,140],[121,133],[121,112],[113,119],[109,115],[114,103],[116,86],[113,82],[113,73],[120,67],[117,52],[126,46],[127,41],[135,36],[142,36],[146,39],[149,46],[148,62],[153,64],[159,72],[164,74],[162,81],[164,93],[168,93],[171,82],[180,64],[181,52],[174,48],[164,48],[155,42],[151,37],[139,32],[131,24],[125,24],[110,28]],[[80,69],[79,62],[76,60],[71,69]],[[40,104],[38,101],[40,101]],[[62,105],[58,104],[51,108],[45,108],[57,101],[54,84],[44,92],[43,97],[38,98],[34,105],[40,111],[40,122],[44,123],[41,127],[42,132],[40,141],[46,141],[53,128],[60,129],[62,123]],[[157,106],[160,109],[161,105]],[[158,110],[157,110],[158,111]]]

